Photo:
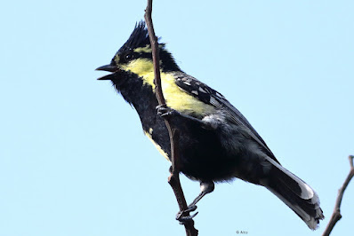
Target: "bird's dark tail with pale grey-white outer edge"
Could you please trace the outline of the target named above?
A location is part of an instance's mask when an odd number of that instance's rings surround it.
[[[262,185],[293,209],[311,230],[316,230],[319,220],[325,218],[319,207],[318,194],[300,177],[296,177],[276,161],[270,162],[269,176]]]

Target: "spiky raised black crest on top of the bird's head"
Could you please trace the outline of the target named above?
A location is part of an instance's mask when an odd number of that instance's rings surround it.
[[[135,24],[135,28],[133,30],[132,35],[130,35],[129,39],[125,42],[125,44],[119,49],[118,52],[129,51],[140,47],[145,47],[149,45],[149,33],[148,28],[145,26],[145,22],[141,20],[141,22]]]

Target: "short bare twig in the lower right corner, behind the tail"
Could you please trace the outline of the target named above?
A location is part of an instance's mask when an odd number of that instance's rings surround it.
[[[334,225],[342,218],[341,203],[342,203],[343,194],[345,189],[349,185],[351,178],[354,177],[353,159],[354,159],[354,155],[350,155],[349,156],[350,172],[348,174],[348,177],[345,179],[342,187],[338,190],[337,201],[335,201],[335,205],[334,205],[334,213],[332,214],[331,219],[329,220],[326,226],[326,230],[325,232],[323,232],[322,236],[328,236],[334,229]]]

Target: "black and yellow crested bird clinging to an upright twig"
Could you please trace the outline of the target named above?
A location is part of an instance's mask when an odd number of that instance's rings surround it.
[[[160,40],[160,38],[159,38]],[[142,130],[157,150],[171,161],[171,147],[164,117],[180,131],[181,172],[200,183],[200,193],[186,211],[212,193],[214,183],[236,178],[261,185],[291,208],[311,230],[325,216],[318,194],[300,177],[283,167],[261,136],[236,107],[217,90],[186,74],[165,43],[158,42],[161,86],[165,104],[158,105],[149,32],[143,20],[117,51],[109,65],[96,70],[110,72],[109,80],[139,114]],[[220,78],[219,78],[220,80]],[[195,216],[182,216],[183,223]],[[185,217],[185,218],[184,218]]]

